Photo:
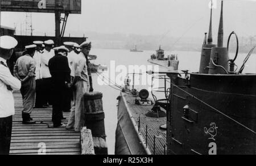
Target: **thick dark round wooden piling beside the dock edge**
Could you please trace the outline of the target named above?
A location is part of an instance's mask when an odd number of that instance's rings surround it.
[[[107,155],[106,134],[104,124],[104,110],[102,93],[89,92],[84,94],[85,126],[92,130],[94,151],[96,155]]]

